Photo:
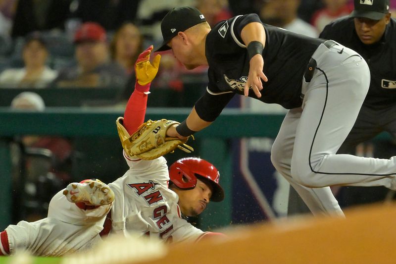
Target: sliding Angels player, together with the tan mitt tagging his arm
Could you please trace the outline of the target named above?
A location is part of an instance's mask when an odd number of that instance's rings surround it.
[[[136,62],[135,90],[116,122],[129,170],[108,186],[96,179],[69,184],[50,201],[47,218],[21,221],[0,233],[0,255],[24,249],[38,256],[63,256],[93,247],[108,233],[134,232],[168,242],[222,236],[183,219],[201,213],[209,201],[223,200],[217,169],[200,158],[182,158],[168,172],[162,155],[191,147],[184,145],[187,140],[166,138],[174,121],[143,123],[160,61],[157,55],[149,62],[151,51],[152,46]]]

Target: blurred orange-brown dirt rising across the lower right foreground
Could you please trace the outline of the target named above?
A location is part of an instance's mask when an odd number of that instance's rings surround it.
[[[301,217],[229,231],[225,241],[174,245],[145,264],[395,263],[396,205],[346,211],[347,218]]]

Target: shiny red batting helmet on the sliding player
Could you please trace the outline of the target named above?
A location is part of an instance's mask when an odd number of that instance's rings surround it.
[[[197,185],[197,177],[208,182],[213,189],[210,201],[220,202],[224,199],[224,191],[219,185],[220,173],[211,163],[201,158],[182,158],[169,167],[169,177],[181,189],[193,189]]]

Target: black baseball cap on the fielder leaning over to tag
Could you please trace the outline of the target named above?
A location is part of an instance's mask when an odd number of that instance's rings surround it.
[[[161,32],[164,41],[155,52],[170,50],[168,42],[180,31],[185,31],[206,19],[202,13],[195,7],[185,6],[177,7],[170,10],[161,21]]]

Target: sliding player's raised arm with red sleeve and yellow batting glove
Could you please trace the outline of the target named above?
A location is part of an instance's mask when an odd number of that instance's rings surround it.
[[[129,134],[136,132],[145,121],[147,98],[151,81],[158,72],[161,55],[157,54],[150,63],[153,46],[141,53],[135,63],[135,90],[128,100],[124,112],[123,125]]]

